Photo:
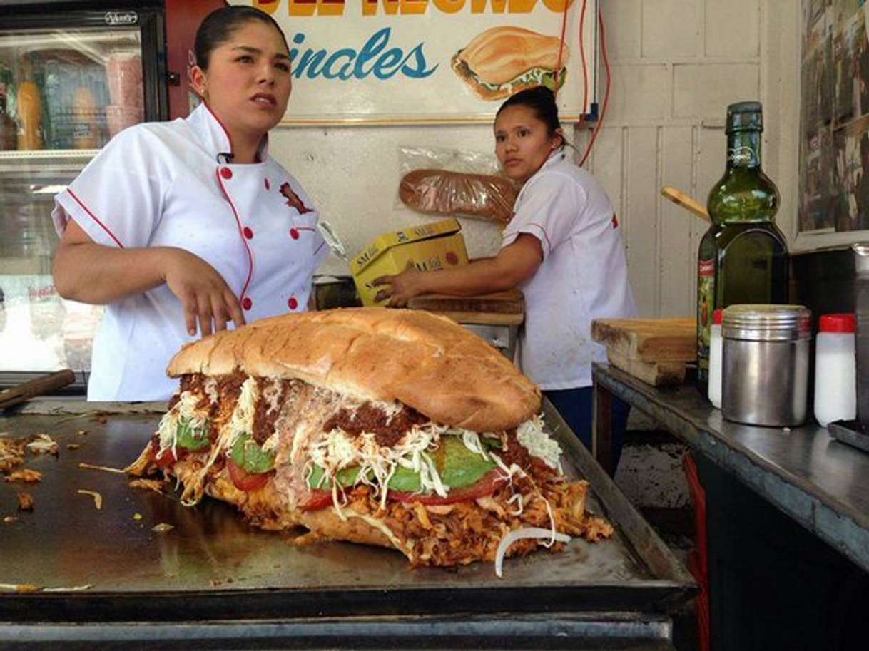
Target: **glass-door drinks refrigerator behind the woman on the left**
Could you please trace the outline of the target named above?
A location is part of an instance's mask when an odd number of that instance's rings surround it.
[[[54,195],[136,122],[166,119],[163,4],[0,2],[0,385],[90,371],[102,308],[51,278]]]

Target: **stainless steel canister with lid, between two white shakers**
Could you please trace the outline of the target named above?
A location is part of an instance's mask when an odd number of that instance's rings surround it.
[[[721,334],[724,418],[774,427],[803,424],[812,312],[804,306],[729,306]]]

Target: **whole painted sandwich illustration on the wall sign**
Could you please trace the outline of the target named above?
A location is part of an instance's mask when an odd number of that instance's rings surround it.
[[[534,86],[560,89],[568,56],[567,45],[555,36],[504,25],[474,36],[454,54],[452,63],[456,75],[477,95],[494,101]]]

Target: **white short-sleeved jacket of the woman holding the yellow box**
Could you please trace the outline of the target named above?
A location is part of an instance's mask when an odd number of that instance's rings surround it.
[[[592,319],[634,316],[627,261],[613,206],[591,174],[556,150],[522,187],[503,247],[519,233],[541,241],[543,261],[520,289],[525,324],[521,370],[544,391],[591,386],[606,348],[591,339]]]

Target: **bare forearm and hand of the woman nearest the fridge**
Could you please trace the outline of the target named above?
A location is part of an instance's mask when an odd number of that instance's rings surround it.
[[[207,335],[229,320],[244,324],[235,293],[193,253],[175,247],[116,249],[96,244],[74,220],[61,236],[52,265],[54,283],[64,299],[104,305],[166,283],[181,300],[187,331]]]

